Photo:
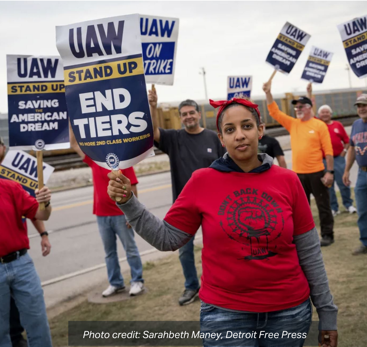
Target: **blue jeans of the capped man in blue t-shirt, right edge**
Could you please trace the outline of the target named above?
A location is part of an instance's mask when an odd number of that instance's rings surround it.
[[[360,240],[367,247],[367,172],[358,170],[357,183],[354,188],[356,196]]]

